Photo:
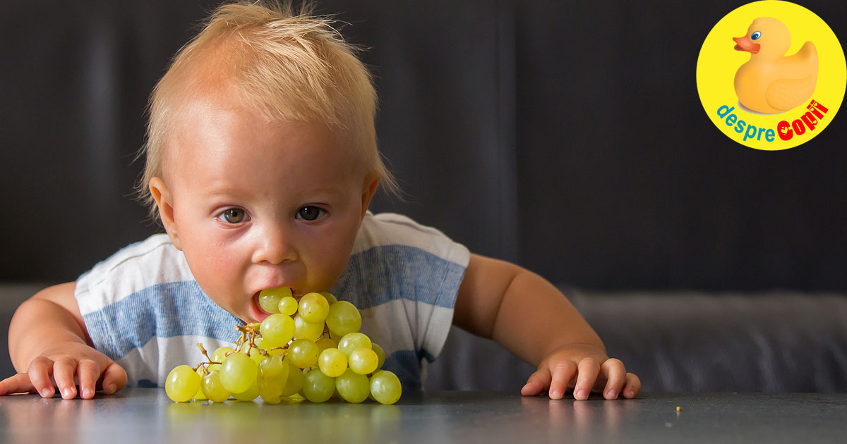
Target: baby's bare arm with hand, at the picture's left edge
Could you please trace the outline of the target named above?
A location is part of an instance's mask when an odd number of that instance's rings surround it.
[[[126,371],[91,345],[75,282],[46,288],[20,304],[8,326],[8,350],[17,375],[0,381],[0,396],[37,392],[53,397],[53,381],[62,397],[90,399],[97,386],[111,394],[126,385]]]

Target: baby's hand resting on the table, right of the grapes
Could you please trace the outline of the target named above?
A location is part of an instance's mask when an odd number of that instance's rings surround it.
[[[622,392],[623,397],[633,398],[641,392],[641,381],[627,373],[620,359],[610,359],[601,349],[563,347],[541,361],[521,394],[548,391],[551,399],[562,399],[568,388],[573,388],[573,397],[580,400],[587,399],[590,391],[603,392],[606,399],[616,399]]]

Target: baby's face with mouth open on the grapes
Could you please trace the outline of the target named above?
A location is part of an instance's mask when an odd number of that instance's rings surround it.
[[[377,181],[322,125],[266,123],[196,101],[180,112],[151,190],[174,245],[213,301],[247,322],[264,288],[329,290]]]

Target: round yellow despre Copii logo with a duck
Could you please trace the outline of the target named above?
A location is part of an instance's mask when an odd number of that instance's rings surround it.
[[[844,100],[839,39],[816,14],[776,0],[748,3],[711,29],[697,58],[697,92],[723,134],[757,150],[811,140]]]

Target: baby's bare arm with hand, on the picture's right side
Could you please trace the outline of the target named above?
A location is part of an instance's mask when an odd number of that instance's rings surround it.
[[[559,399],[573,387],[577,399],[592,390],[615,399],[641,391],[638,376],[627,373],[619,359],[609,359],[600,337],[556,287],[507,261],[471,255],[453,323],[537,366],[524,395],[546,390]]]

